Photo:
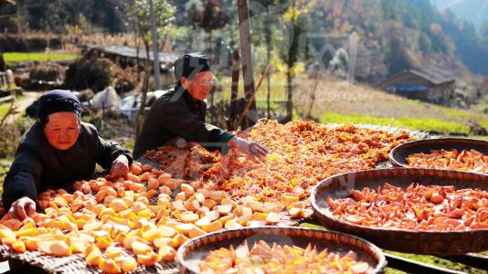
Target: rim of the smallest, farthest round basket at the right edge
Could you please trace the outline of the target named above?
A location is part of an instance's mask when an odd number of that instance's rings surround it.
[[[393,165],[395,165],[395,166],[411,168],[411,167],[408,167],[408,164],[400,163],[398,161],[398,159],[396,157],[398,154],[398,151],[405,149],[405,148],[409,148],[409,147],[421,146],[422,144],[428,145],[430,143],[438,143],[438,142],[478,143],[481,145],[486,145],[486,147],[488,148],[488,141],[479,140],[479,139],[461,138],[461,137],[442,137],[442,138],[435,138],[435,139],[419,139],[419,140],[415,140],[415,141],[404,142],[404,143],[398,144],[396,147],[394,147],[390,151],[388,160],[389,160],[389,162],[393,163]],[[463,173],[471,173],[471,172],[463,172]]]

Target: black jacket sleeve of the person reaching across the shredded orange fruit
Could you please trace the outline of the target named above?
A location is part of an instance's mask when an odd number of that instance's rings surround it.
[[[168,122],[166,130],[193,142],[228,142],[233,136],[220,128],[200,121],[198,116],[180,101],[167,102],[164,105],[161,121]]]

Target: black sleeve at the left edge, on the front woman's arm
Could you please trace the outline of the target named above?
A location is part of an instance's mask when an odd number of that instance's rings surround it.
[[[16,200],[27,196],[37,201],[37,188],[39,187],[43,164],[37,153],[28,148],[16,154],[16,159],[4,182],[2,201],[8,210]]]

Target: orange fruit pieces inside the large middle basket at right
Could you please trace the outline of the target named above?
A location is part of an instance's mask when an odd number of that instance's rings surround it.
[[[488,192],[452,185],[391,184],[351,190],[352,197],[327,202],[335,218],[386,229],[470,231],[488,228]]]

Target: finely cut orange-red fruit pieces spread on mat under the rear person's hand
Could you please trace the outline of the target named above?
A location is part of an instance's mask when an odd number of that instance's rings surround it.
[[[224,190],[236,197],[251,195],[277,201],[281,195],[308,197],[313,185],[334,175],[374,169],[399,143],[412,141],[408,132],[327,127],[313,121],[260,121],[238,135],[259,142],[269,154],[260,163],[243,153],[209,152],[196,143],[187,148],[160,147],[146,157],[196,189]]]

